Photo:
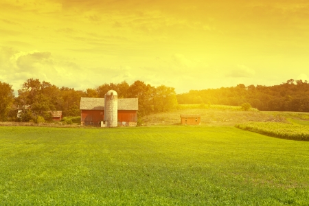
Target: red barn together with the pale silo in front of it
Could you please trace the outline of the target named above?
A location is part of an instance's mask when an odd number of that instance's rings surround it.
[[[82,126],[136,126],[138,99],[117,99],[116,91],[108,91],[104,98],[80,98]]]

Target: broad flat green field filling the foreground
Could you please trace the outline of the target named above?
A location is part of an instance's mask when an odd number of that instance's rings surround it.
[[[3,126],[0,165],[0,205],[309,203],[309,142],[231,126]]]

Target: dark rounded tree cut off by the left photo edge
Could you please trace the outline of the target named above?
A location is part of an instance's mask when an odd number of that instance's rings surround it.
[[[8,119],[8,113],[14,102],[14,90],[12,85],[0,82],[0,121]]]

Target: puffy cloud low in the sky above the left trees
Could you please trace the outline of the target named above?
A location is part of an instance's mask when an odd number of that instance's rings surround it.
[[[87,72],[75,62],[54,59],[50,52],[23,52],[8,47],[0,48],[0,73],[1,82],[11,84],[15,93],[29,78],[75,89],[84,89],[80,82],[87,78]]]

